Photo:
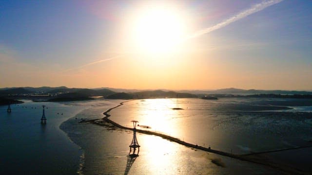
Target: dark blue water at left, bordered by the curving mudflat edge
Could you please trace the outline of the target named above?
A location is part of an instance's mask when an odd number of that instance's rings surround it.
[[[40,124],[41,105],[48,107],[46,125]],[[25,101],[11,108],[8,114],[7,106],[0,106],[0,174],[75,174],[82,151],[59,125],[84,107]]]

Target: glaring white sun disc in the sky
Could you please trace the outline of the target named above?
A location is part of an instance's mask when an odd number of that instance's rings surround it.
[[[182,15],[167,6],[143,9],[132,26],[136,48],[148,53],[174,51],[185,33]]]

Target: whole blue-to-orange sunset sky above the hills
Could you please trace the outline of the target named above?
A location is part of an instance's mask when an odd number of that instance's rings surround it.
[[[0,88],[312,90],[311,0],[1,0]]]

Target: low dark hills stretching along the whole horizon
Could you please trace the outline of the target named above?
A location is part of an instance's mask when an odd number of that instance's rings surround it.
[[[312,98],[311,91],[295,90],[256,90],[225,88],[218,90],[137,90],[117,88],[67,88],[67,87],[24,87],[2,88],[0,97],[8,99],[31,99],[34,101],[81,101],[94,100],[94,97],[105,99],[150,99],[150,98],[200,98],[210,95],[222,97],[254,97],[254,98]],[[8,102],[10,103],[10,102]],[[4,101],[3,101],[4,104]]]

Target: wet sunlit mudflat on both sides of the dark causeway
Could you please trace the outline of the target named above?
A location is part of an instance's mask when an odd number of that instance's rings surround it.
[[[309,124],[311,124],[309,106],[301,105],[302,110],[294,106],[276,105],[275,107],[272,104],[280,102],[272,99],[265,100],[268,103],[267,108],[265,105],[259,105],[260,102],[263,103],[263,100],[257,101],[256,99],[252,101],[250,99],[223,99],[218,102],[200,99],[134,100],[111,110],[109,114],[110,120],[124,126],[131,127],[130,121],[138,120],[139,125],[142,126],[141,128],[138,126],[140,129],[164,133],[180,140],[204,147],[211,146],[214,149],[237,155],[308,146],[309,138],[311,138],[311,133],[308,132],[310,131]],[[295,103],[292,104],[295,105]],[[229,108],[227,107],[229,105],[238,107]],[[251,110],[253,106],[260,107]],[[173,110],[174,107],[184,110]],[[98,108],[96,113],[104,108],[107,110],[109,106]],[[78,116],[86,116],[91,111],[88,109]],[[127,166],[129,166],[127,155],[132,140],[132,131],[110,126],[101,127],[90,123],[77,123],[73,119],[66,123],[71,123],[72,131],[78,131],[69,136],[86,151],[82,167],[84,174],[123,174],[125,171],[129,174],[285,173],[270,166],[207,153],[160,137],[139,133],[137,139],[141,145],[140,154],[127,171]],[[310,148],[305,149],[300,152],[309,154]],[[296,152],[296,150],[292,151]],[[278,153],[258,156],[269,158],[273,163],[281,164],[281,167],[290,164],[288,161],[281,161],[281,158],[278,160],[278,156],[274,154]],[[279,154],[281,155],[282,152]],[[295,157],[296,155],[292,156],[297,160],[300,159],[300,157]],[[302,160],[310,161],[309,158],[300,159]],[[301,167],[303,172],[311,171],[303,164],[300,166],[292,164],[293,169],[297,167]]]

